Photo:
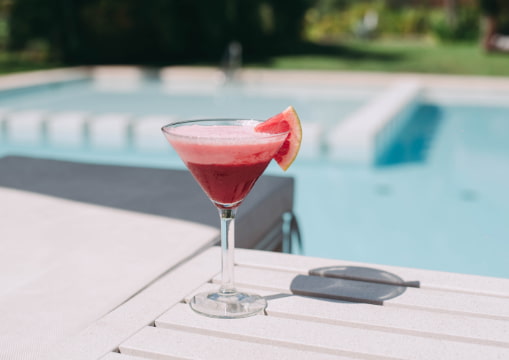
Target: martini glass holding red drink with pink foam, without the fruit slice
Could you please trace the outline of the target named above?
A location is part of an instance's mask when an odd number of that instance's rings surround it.
[[[195,295],[191,308],[206,316],[241,318],[267,307],[259,296],[235,289],[235,215],[256,180],[278,152],[288,132],[256,132],[258,120],[211,119],[171,123],[162,128],[221,220],[221,285]]]

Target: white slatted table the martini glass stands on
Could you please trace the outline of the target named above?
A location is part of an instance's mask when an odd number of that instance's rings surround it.
[[[65,343],[55,359],[509,359],[509,279],[236,250],[266,314],[184,300],[218,281],[211,248]],[[212,282],[212,283],[211,283]]]

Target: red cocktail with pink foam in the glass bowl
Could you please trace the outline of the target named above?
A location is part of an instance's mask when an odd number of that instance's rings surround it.
[[[221,208],[238,206],[282,144],[281,138],[255,132],[257,121],[241,126],[203,123],[166,132],[168,141],[209,198]]]

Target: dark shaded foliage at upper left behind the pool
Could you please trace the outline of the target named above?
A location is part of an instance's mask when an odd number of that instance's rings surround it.
[[[65,63],[220,61],[230,41],[264,56],[300,41],[309,0],[13,0],[11,50],[37,40]]]

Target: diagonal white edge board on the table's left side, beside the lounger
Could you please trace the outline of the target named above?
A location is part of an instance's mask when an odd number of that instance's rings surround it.
[[[219,270],[214,247],[184,263],[56,349],[50,359],[97,359],[207,282]]]

